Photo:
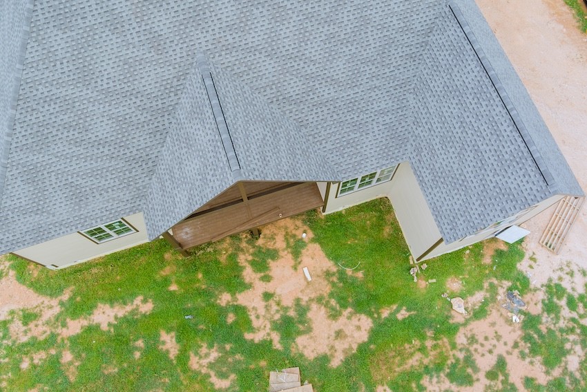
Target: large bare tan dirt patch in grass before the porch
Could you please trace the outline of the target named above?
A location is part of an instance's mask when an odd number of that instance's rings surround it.
[[[308,358],[328,354],[331,357],[331,366],[338,366],[344,358],[356,350],[361,342],[365,342],[372,328],[372,320],[364,315],[358,315],[353,310],[339,312],[337,317],[331,317],[331,310],[320,298],[326,298],[331,290],[330,275],[340,267],[335,265],[324,254],[316,243],[307,242],[302,250],[300,260],[287,250],[287,237],[302,238],[306,233],[305,241],[310,241],[314,234],[296,218],[283,219],[262,227],[262,236],[256,245],[265,248],[277,249],[279,257],[269,263],[270,281],[262,281],[248,263],[252,250],[247,245],[239,255],[239,263],[244,267],[244,281],[251,285],[249,290],[240,292],[234,299],[224,294],[220,297],[220,304],[226,306],[235,301],[245,306],[249,311],[254,332],[245,333],[244,337],[259,342],[269,339],[276,348],[282,348],[280,335],[272,329],[272,324],[282,315],[294,316],[294,306],[301,304],[309,306],[308,319],[311,332],[296,339],[292,349],[304,354]],[[307,281],[302,268],[307,267],[311,274],[311,281]],[[354,271],[352,272],[354,273]],[[358,275],[360,276],[360,275]],[[264,293],[270,293],[267,301]],[[320,303],[318,303],[320,302]],[[332,304],[333,308],[336,308]],[[387,313],[388,315],[389,313]]]

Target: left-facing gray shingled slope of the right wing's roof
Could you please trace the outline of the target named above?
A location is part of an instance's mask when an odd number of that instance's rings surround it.
[[[452,10],[440,20],[417,78],[410,162],[450,243],[551,192]]]

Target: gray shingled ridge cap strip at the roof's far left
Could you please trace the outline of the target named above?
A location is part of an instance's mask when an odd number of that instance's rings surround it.
[[[24,71],[24,63],[26,59],[26,51],[28,48],[28,41],[30,38],[30,23],[32,21],[32,11],[35,8],[35,0],[29,0],[26,5],[27,15],[24,20],[23,37],[21,38],[21,47],[19,50],[19,57],[17,64],[15,64],[15,88],[12,90],[11,104],[8,118],[6,119],[6,134],[4,135],[4,148],[0,151],[0,206],[4,196],[4,185],[6,183],[6,172],[8,171],[8,162],[10,161],[10,146],[12,145],[12,133],[15,129],[15,122],[17,119],[17,109],[20,96],[22,74]]]

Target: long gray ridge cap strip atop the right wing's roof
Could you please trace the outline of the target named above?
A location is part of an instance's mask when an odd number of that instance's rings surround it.
[[[503,106],[506,108],[506,111],[510,115],[510,118],[512,118],[512,121],[514,122],[514,127],[516,127],[524,144],[526,144],[526,148],[530,152],[530,156],[532,157],[532,160],[534,160],[535,165],[538,168],[538,171],[540,171],[540,174],[544,179],[546,185],[554,185],[555,178],[552,176],[550,170],[546,166],[546,162],[543,160],[541,153],[538,151],[536,144],[534,143],[534,140],[532,140],[532,137],[528,132],[528,129],[526,129],[526,124],[523,123],[523,120],[519,116],[519,113],[515,108],[512,100],[510,100],[510,97],[506,89],[503,87],[503,84],[501,84],[501,81],[499,80],[497,73],[494,71],[494,68],[489,62],[489,59],[485,56],[485,52],[483,51],[483,48],[481,48],[481,44],[479,44],[479,41],[477,41],[477,37],[475,37],[472,29],[470,28],[467,20],[465,19],[465,16],[459,9],[459,6],[454,2],[454,0],[450,1],[448,6],[452,11],[452,14],[454,15],[454,18],[456,19],[457,23],[459,23],[459,26],[461,26],[461,30],[463,30],[463,34],[465,35],[465,37],[467,37],[469,44],[471,45],[472,49],[477,55],[477,58],[479,58],[479,62],[481,62],[481,66],[483,66],[485,73],[487,73],[491,83],[495,88],[495,91],[497,91],[497,95],[499,95],[499,98],[503,103]]]

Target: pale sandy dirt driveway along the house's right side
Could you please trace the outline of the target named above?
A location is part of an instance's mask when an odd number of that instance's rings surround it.
[[[563,0],[477,0],[501,46],[526,85],[540,114],[583,189],[587,189],[587,34]],[[526,223],[526,240],[543,270],[572,261],[587,268],[587,208],[583,208],[558,256],[538,244],[552,211]]]

